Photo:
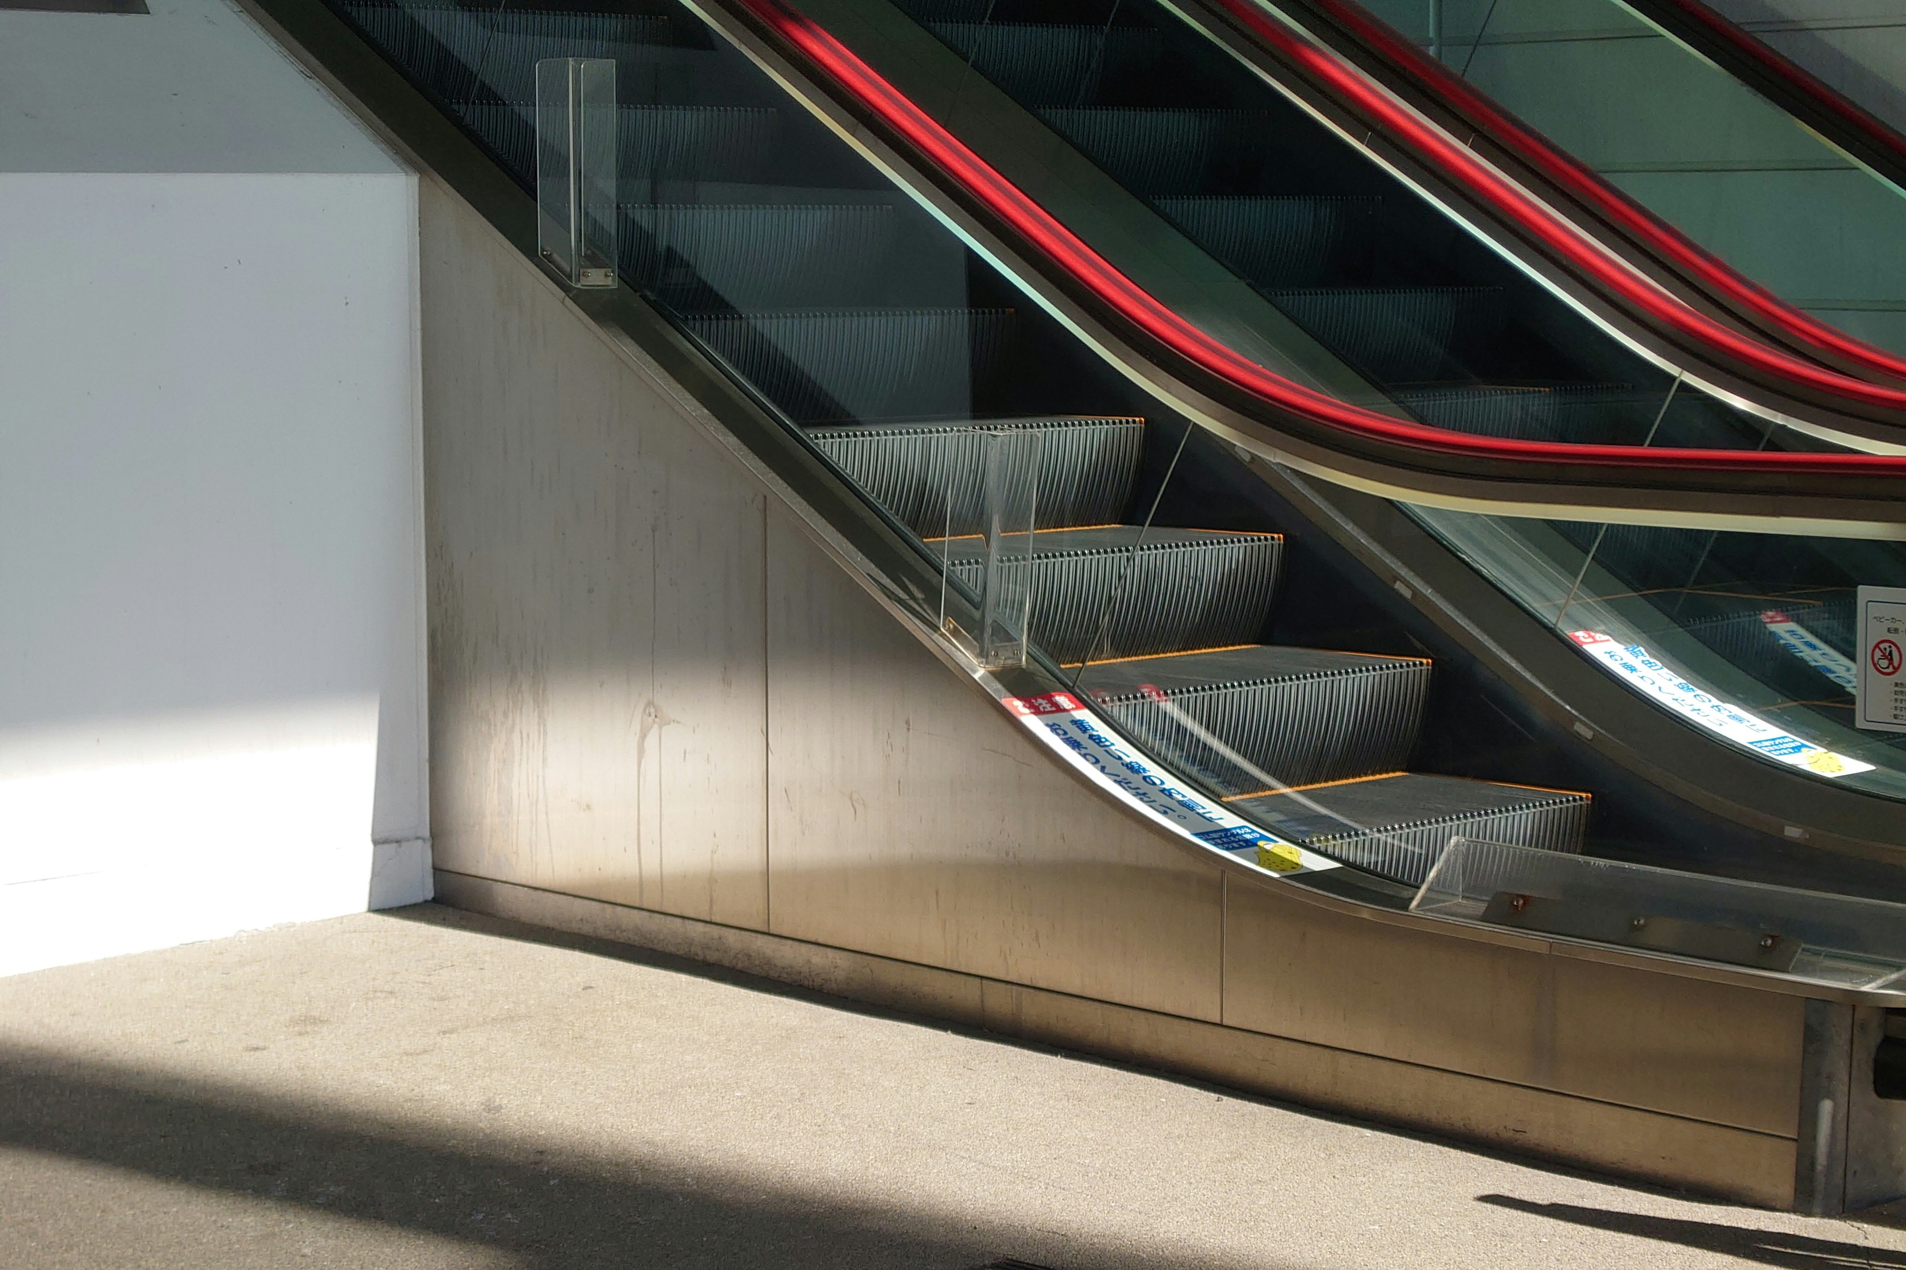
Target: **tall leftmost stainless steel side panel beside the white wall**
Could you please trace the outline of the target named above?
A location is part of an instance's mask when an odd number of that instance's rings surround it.
[[[764,925],[764,491],[419,190],[436,863]]]

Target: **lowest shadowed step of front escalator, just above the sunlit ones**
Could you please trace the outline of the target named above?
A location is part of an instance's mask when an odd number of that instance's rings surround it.
[[[797,423],[970,419],[1012,310],[717,312],[682,324]]]

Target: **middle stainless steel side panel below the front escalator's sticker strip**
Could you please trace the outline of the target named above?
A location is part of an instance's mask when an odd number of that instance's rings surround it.
[[[770,929],[1218,1019],[1220,870],[1067,777],[768,514]]]

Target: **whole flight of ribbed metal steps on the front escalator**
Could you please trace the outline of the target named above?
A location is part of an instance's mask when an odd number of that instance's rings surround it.
[[[1197,468],[1235,461],[1111,375],[686,11],[665,0],[637,13],[362,0],[345,11],[524,185],[534,63],[614,59],[623,282],[955,581],[976,586],[985,552],[982,447],[1037,434],[1012,447],[1035,470],[1010,474],[1037,487],[1031,644],[1062,684],[1235,813],[1403,883],[1422,882],[1458,834],[1582,847],[1584,794],[1407,769],[1428,659],[1266,642],[1279,625],[1277,526],[1241,499],[1203,520],[1172,514],[1203,501],[1172,497],[1210,484]],[[1317,251],[1296,255],[1319,259],[1290,259],[1275,282],[1321,322],[1336,320],[1332,305],[1487,322],[1496,303],[1317,286],[1359,268],[1349,228],[1378,215],[1370,198],[1212,200],[1186,215],[1243,234],[1252,217],[1311,217]],[[1361,270],[1359,282],[1393,282]],[[1372,356],[1435,390],[1441,354],[1422,337]]]

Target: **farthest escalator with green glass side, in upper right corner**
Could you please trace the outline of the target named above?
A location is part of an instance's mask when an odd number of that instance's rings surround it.
[[[1580,202],[1639,257],[1750,312],[1797,310],[1845,364],[1898,377],[1906,139],[1700,0],[1296,6],[1506,166]],[[1706,257],[1706,259],[1704,259]],[[1740,286],[1740,284],[1746,286]],[[1816,326],[1815,326],[1816,324]],[[1813,326],[1813,337],[1805,327]],[[1784,327],[1784,331],[1782,331]],[[1816,337],[1816,339],[1815,339]]]

